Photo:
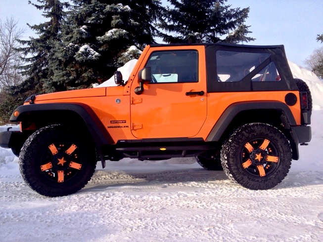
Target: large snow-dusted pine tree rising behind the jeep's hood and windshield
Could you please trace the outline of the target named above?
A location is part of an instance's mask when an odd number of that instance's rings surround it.
[[[152,21],[159,0],[74,0],[49,63],[54,70],[47,88],[64,90],[109,79],[123,64],[122,53],[154,42]],[[132,53],[135,57],[136,51]]]

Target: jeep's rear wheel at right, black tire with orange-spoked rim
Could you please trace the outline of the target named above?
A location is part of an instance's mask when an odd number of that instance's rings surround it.
[[[252,190],[271,189],[279,184],[287,175],[291,160],[287,138],[265,123],[237,128],[221,150],[222,166],[229,179]]]

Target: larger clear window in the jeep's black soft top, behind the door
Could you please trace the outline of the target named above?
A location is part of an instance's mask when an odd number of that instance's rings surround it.
[[[216,52],[217,80],[219,82],[241,81],[269,57],[269,53],[218,50]]]

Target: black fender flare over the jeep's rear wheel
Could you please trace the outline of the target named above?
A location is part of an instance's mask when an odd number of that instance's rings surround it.
[[[299,159],[298,142],[290,132],[297,125],[288,106],[281,102],[239,102],[229,106],[213,126],[206,141],[223,143],[233,130],[246,123],[263,122],[277,127],[289,140],[293,160]]]

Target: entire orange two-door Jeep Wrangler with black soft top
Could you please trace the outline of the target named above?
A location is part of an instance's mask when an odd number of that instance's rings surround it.
[[[275,187],[311,140],[312,98],[283,45],[148,45],[117,86],[33,95],[0,133],[36,192],[82,189],[96,162],[195,157],[248,189]]]

